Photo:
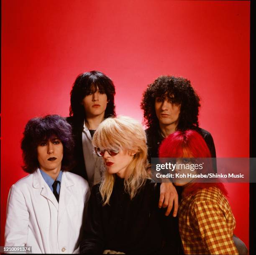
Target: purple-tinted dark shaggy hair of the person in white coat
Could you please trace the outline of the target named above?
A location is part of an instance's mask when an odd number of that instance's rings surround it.
[[[21,141],[22,156],[24,161],[23,170],[27,173],[33,173],[39,167],[37,159],[37,146],[53,137],[61,140],[63,145],[63,159],[61,161],[61,170],[68,171],[73,166],[73,148],[72,127],[59,115],[47,115],[45,117],[36,117],[28,121],[23,132]]]

